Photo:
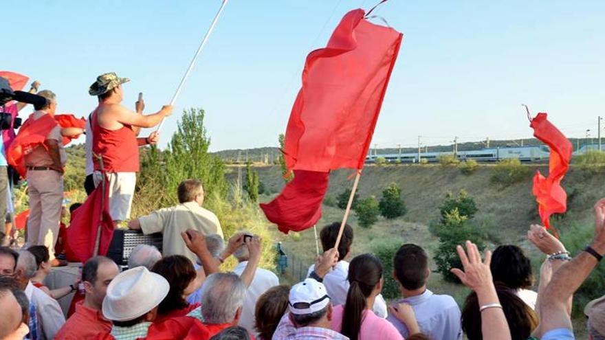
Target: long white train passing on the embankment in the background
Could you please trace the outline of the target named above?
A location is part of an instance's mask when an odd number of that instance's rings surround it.
[[[443,155],[452,155],[452,152],[420,152],[420,158],[429,162],[439,161]],[[500,161],[501,159],[518,158],[520,161],[545,161],[549,159],[548,146],[515,146],[503,148],[483,148],[481,150],[458,151],[456,158],[460,161],[474,159],[475,161]],[[418,152],[391,153],[383,155],[368,155],[366,163],[375,163],[377,158],[384,158],[388,163],[418,163]]]

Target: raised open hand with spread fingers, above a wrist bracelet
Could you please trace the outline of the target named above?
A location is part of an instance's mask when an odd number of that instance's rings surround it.
[[[492,262],[491,251],[485,251],[485,260],[483,262],[481,262],[481,253],[479,253],[479,249],[473,242],[466,241],[466,253],[461,246],[457,246],[456,251],[458,251],[464,271],[457,268],[451,271],[465,286],[476,292],[494,286],[492,271],[489,270],[489,263]]]

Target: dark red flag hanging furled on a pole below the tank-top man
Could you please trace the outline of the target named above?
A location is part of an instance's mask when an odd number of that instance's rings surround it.
[[[113,220],[109,214],[109,181],[105,180],[104,204],[102,185],[88,196],[83,205],[74,210],[72,224],[66,231],[65,257],[74,262],[86,262],[93,256],[97,230],[101,226],[99,255],[107,255],[113,236]],[[101,217],[102,212],[102,217]]]

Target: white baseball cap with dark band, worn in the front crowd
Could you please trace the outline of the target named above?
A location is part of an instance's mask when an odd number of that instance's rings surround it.
[[[330,297],[324,284],[311,278],[295,284],[288,298],[290,313],[307,315],[318,312],[330,303]]]

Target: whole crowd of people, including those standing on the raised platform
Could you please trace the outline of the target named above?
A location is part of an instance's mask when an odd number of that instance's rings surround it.
[[[242,229],[225,242],[219,219],[203,208],[199,180],[181,182],[177,205],[130,219],[138,148],[158,138],[138,134],[159,124],[172,107],[143,115],[140,97],[135,111],[126,109],[120,104],[125,82],[115,73],[97,78],[89,94],[99,104],[80,130],[48,120],[56,95],[32,84],[32,92],[47,101],[34,107],[28,126],[43,138],[24,157],[31,209],[27,242],[20,249],[0,247],[0,339],[574,339],[571,299],[605,253],[605,199],[594,208],[593,240],[574,258],[544,227],[530,227],[527,239],[546,256],[537,291],[531,290],[536,283],[522,249],[501,245],[482,256],[467,241],[456,249],[462,268],[452,269],[471,290],[460,308],[450,295],[430,291],[431,259],[420,245],[401,245],[393,254],[393,273],[385,273],[371,253],[351,258],[351,226],[344,226],[337,245],[340,223],[322,228],[322,255],[303,282],[287,286],[259,267],[259,236]],[[56,258],[65,165],[61,140],[83,132],[87,192],[106,179],[111,218],[129,220],[126,226],[143,234],[162,233],[162,251],[138,245],[126,268],[94,256],[72,284],[50,289],[47,275],[63,264]],[[2,208],[10,190],[4,172],[6,159],[0,158]],[[221,270],[231,256],[236,267]],[[401,295],[390,303],[381,294],[386,275]],[[71,293],[80,297],[64,311],[57,299]],[[591,339],[605,339],[605,297],[584,313]]]

